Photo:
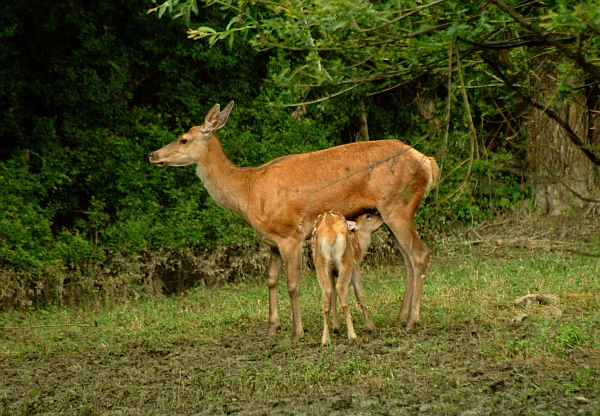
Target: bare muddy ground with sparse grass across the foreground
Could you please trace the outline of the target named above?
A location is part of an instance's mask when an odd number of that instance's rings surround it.
[[[526,341],[534,320],[497,328],[468,319],[410,334],[383,326],[355,343],[336,335],[328,348],[319,315],[307,322],[298,343],[289,323],[268,339],[265,322],[251,320],[211,342],[98,340],[79,351],[0,356],[0,414],[600,415],[597,348],[490,358],[499,332]],[[85,336],[64,332],[65,341]]]

